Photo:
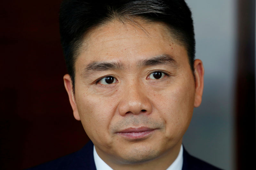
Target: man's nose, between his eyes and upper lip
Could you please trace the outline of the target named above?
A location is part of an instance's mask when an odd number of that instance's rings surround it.
[[[150,114],[152,105],[145,89],[137,83],[125,85],[122,100],[118,105],[118,111],[121,116],[127,114]]]

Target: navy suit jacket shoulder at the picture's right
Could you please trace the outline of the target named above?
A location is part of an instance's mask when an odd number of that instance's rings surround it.
[[[191,156],[183,147],[183,166],[182,170],[221,170],[211,164]]]

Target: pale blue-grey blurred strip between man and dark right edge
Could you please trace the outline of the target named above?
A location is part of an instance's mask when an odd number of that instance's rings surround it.
[[[204,94],[183,144],[192,155],[235,169],[236,1],[188,1],[196,34],[196,58],[205,68]]]

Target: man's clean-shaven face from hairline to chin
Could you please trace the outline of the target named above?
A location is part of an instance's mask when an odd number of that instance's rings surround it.
[[[100,157],[117,163],[180,148],[201,102],[185,47],[164,25],[141,25],[113,21],[92,30],[75,62],[75,96],[64,77],[75,118]]]

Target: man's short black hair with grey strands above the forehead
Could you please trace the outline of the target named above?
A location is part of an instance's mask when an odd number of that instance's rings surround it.
[[[136,18],[166,24],[171,37],[185,46],[194,73],[194,26],[191,11],[184,0],[64,0],[60,7],[60,37],[73,93],[74,64],[86,34],[115,19],[138,24]]]

